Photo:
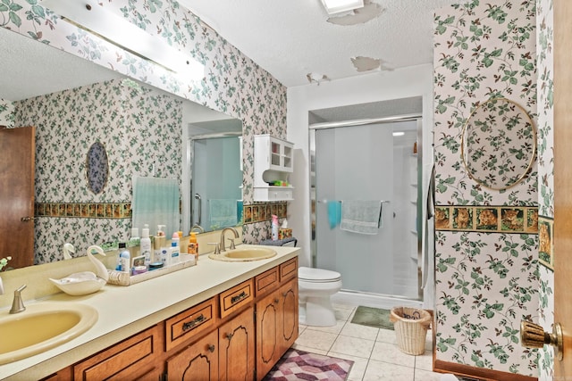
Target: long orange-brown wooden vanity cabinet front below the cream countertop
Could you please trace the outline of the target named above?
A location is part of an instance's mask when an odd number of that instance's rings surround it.
[[[46,380],[260,380],[298,337],[297,274],[293,258]]]

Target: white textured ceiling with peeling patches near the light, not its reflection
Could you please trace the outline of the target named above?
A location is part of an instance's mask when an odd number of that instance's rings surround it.
[[[371,72],[357,71],[351,59],[358,56],[381,60],[381,70],[433,62],[433,10],[460,0],[371,0],[379,14],[355,25],[329,22],[320,0],[179,2],[293,87],[307,85],[308,73],[342,79]]]

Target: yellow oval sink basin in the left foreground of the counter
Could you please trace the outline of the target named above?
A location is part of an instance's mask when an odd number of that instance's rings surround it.
[[[85,304],[43,302],[26,311],[0,313],[0,364],[21,360],[66,343],[97,321],[97,311]]]

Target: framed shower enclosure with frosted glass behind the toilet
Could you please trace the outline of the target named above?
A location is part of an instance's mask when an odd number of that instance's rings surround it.
[[[343,291],[419,300],[421,120],[417,115],[310,126],[312,265]],[[341,230],[335,203],[383,202],[375,235]]]

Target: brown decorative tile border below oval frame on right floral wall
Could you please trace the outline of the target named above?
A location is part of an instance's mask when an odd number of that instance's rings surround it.
[[[436,206],[435,230],[537,234],[538,207]]]

